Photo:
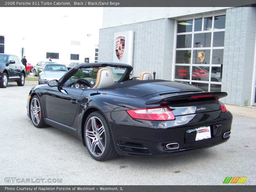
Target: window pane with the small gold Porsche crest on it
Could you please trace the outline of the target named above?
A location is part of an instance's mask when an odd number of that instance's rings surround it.
[[[210,64],[211,50],[193,50],[193,64]]]

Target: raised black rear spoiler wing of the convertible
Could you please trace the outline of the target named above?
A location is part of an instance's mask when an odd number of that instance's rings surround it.
[[[214,98],[215,100],[219,100],[220,98],[226,97],[228,93],[226,92],[186,92],[186,93],[171,93],[165,94],[158,97],[153,97],[146,101],[146,105],[154,105],[165,103],[168,101],[176,101],[176,100],[196,100],[199,98]]]

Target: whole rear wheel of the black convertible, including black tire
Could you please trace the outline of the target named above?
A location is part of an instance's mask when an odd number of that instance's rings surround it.
[[[93,125],[95,127],[93,128]],[[84,124],[84,140],[89,154],[98,161],[114,159],[116,153],[108,121],[99,111],[92,112]]]

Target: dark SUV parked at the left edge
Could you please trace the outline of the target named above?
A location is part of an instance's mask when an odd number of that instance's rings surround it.
[[[19,57],[9,54],[0,54],[0,87],[6,88],[8,81],[16,81],[19,86],[25,84],[25,66]]]

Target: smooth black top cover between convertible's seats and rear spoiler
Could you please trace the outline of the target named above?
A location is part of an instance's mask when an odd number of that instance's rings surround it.
[[[174,81],[165,80],[144,80],[144,81],[126,81],[115,84],[104,89],[100,89],[98,93],[106,93],[110,95],[122,97],[143,97],[154,93],[172,93],[180,91],[202,91],[200,88]]]

